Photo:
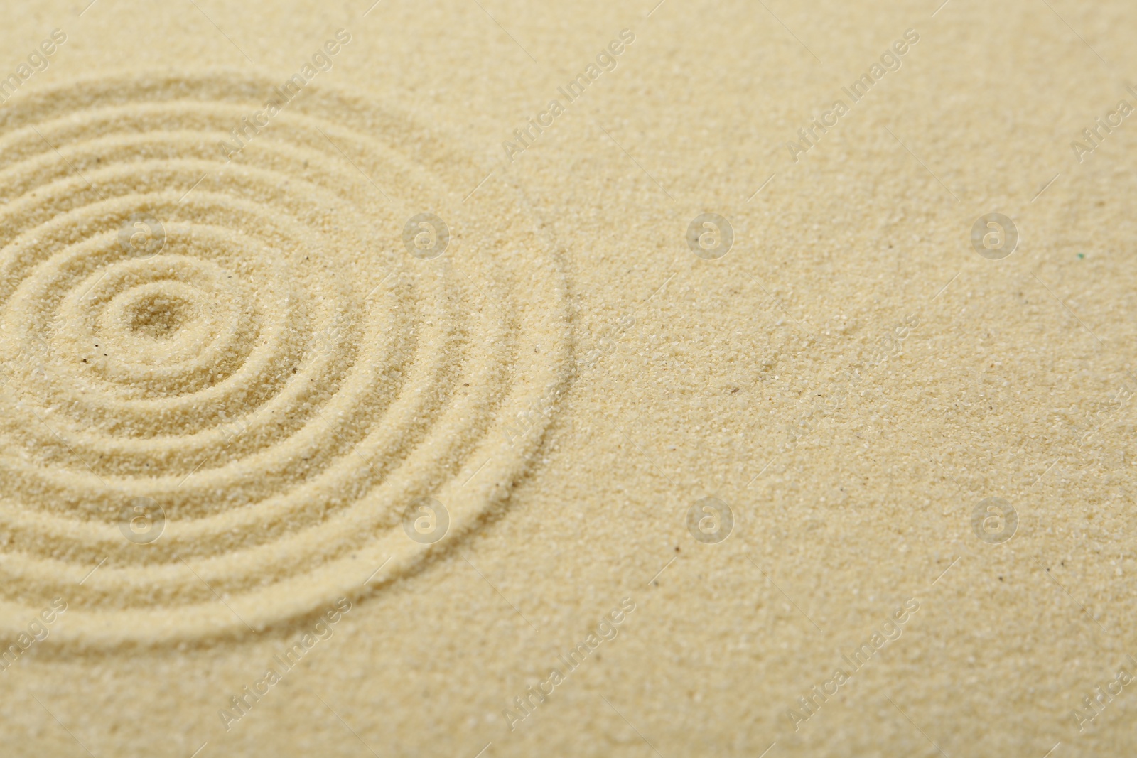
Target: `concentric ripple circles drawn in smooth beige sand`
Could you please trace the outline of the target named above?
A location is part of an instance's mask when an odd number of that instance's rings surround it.
[[[467,159],[326,86],[234,152],[273,90],[124,76],[0,116],[0,626],[61,597],[89,645],[265,628],[460,538],[541,444],[568,322],[517,193],[463,202]],[[445,255],[408,255],[418,214]],[[124,539],[134,502],[157,539]]]

